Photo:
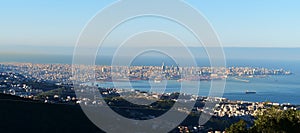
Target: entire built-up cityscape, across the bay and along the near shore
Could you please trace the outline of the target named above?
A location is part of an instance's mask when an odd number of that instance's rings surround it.
[[[290,75],[290,71],[284,69],[267,69],[252,67],[230,67],[230,68],[210,68],[210,67],[178,67],[178,66],[132,66],[132,67],[111,67],[95,66],[96,80],[100,82],[123,82],[129,80],[225,80],[228,77],[265,77],[269,75]],[[190,76],[193,75],[193,76]],[[195,76],[196,75],[196,76]],[[85,81],[85,79],[82,79]],[[84,106],[104,106],[103,100],[99,97],[93,99],[87,97],[76,97],[75,92],[89,93],[92,86],[81,84],[80,90],[73,87],[74,77],[72,77],[72,66],[66,64],[31,64],[31,63],[4,63],[0,65],[0,90],[4,94],[15,95],[23,98],[33,99],[48,104],[81,104]],[[86,82],[86,81],[85,81]],[[195,102],[192,111],[186,108],[176,108],[176,111],[187,114],[200,115],[209,113],[216,119],[243,119],[253,123],[254,117],[262,111],[277,106],[280,110],[299,110],[299,106],[289,103],[273,102],[249,102],[232,101],[226,98],[194,96],[188,94],[174,93],[155,93],[144,92],[140,90],[126,90],[123,88],[98,88],[102,98],[106,99],[108,106],[115,108],[132,108],[161,110],[163,104],[165,110],[178,102],[179,95],[183,95],[186,100],[179,101],[185,104]],[[134,98],[151,101],[168,101],[167,103],[158,102],[151,107],[147,106],[128,106],[123,99],[120,99],[122,93],[132,93]],[[213,112],[205,112],[205,102],[216,102]],[[135,109],[136,109],[135,108]],[[124,113],[124,110],[120,113]],[[125,110],[126,112],[126,110]],[[151,119],[155,114],[149,112],[136,112],[127,110],[127,117],[134,119]],[[179,132],[198,132],[208,131],[203,125],[184,126],[179,125],[176,131]]]

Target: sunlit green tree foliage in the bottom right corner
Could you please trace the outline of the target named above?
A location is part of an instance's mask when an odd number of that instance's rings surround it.
[[[300,111],[296,110],[279,110],[271,108],[262,111],[250,128],[247,124],[240,121],[226,129],[228,133],[294,133],[300,131]]]

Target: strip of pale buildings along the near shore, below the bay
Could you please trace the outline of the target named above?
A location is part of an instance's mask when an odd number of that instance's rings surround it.
[[[93,89],[82,89],[77,90],[81,93],[89,93],[88,91],[93,92]],[[109,89],[100,89],[99,92],[102,94],[102,96],[105,97],[119,97],[122,94],[123,97],[131,97],[131,98],[137,98],[137,99],[145,99],[145,100],[151,100],[151,101],[158,101],[158,100],[172,100],[174,102],[181,102],[181,103],[189,103],[189,102],[195,102],[196,104],[192,110],[192,113],[210,113],[212,116],[216,117],[244,117],[244,116],[256,116],[261,111],[270,108],[272,106],[278,106],[283,110],[287,109],[293,109],[296,110],[297,107],[295,105],[291,105],[290,103],[272,103],[272,102],[247,102],[247,101],[231,101],[226,98],[219,98],[219,97],[202,97],[202,96],[194,96],[189,94],[179,94],[179,93],[148,93],[144,91],[139,90],[126,90],[126,89],[115,89],[115,88],[109,88]],[[127,95],[126,95],[127,94]],[[128,95],[130,94],[130,95]],[[181,99],[177,99],[178,96],[181,95]],[[103,104],[100,102],[99,97],[95,97],[94,99],[78,99],[77,103],[85,103],[85,105],[93,105],[93,104]],[[216,106],[214,107],[212,112],[206,112],[206,109],[204,109],[204,104],[206,102],[216,103]],[[179,112],[183,113],[191,113],[190,110],[187,110],[186,108],[180,108],[178,107],[176,109]],[[246,118],[246,117],[245,117]]]

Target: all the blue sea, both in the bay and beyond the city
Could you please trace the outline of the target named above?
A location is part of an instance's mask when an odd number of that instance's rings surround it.
[[[256,54],[255,52],[267,53],[267,54]],[[289,50],[244,50],[234,49],[228,50],[226,59],[227,67],[264,67],[269,69],[284,69],[290,70],[292,75],[277,75],[277,76],[267,76],[265,78],[244,78],[249,80],[249,82],[243,82],[241,80],[236,80],[234,78],[228,78],[226,80],[226,86],[224,88],[223,96],[224,98],[230,100],[243,100],[252,102],[264,102],[271,101],[276,103],[291,103],[300,105],[300,49],[289,49]],[[230,54],[235,52],[236,55]],[[269,52],[271,51],[271,52]],[[273,53],[272,53],[273,51]],[[282,52],[283,51],[283,52]],[[292,51],[292,52],[290,52]],[[276,54],[278,53],[278,54]],[[241,58],[232,58],[238,54],[243,54]],[[249,56],[248,55],[255,55]],[[288,56],[286,56],[288,55]],[[261,56],[258,58],[258,56]],[[109,65],[111,58],[103,57],[96,61],[98,65]],[[0,62],[30,62],[30,63],[55,63],[55,64],[71,64],[72,56],[70,55],[10,55],[10,56],[0,56]],[[159,57],[147,57],[146,59],[137,59],[132,65],[157,65],[160,66],[162,62],[166,65],[173,65],[172,59],[159,58]],[[198,59],[197,63],[199,66],[209,66],[207,60]],[[215,83],[222,81],[214,81]],[[122,83],[119,83],[122,85]],[[112,82],[99,83],[102,87],[114,87]],[[201,81],[200,82],[200,96],[207,96],[210,91],[211,82]],[[131,82],[131,86],[124,85],[121,86],[124,89],[137,89],[143,91],[151,91],[151,84],[148,81],[135,81]],[[181,83],[177,81],[168,81],[166,85],[165,92],[178,92],[181,88]],[[246,90],[256,91],[256,94],[245,94]]]

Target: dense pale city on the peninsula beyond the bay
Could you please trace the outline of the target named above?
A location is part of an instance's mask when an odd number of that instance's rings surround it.
[[[75,66],[76,67],[76,66]],[[283,69],[267,69],[253,67],[179,67],[179,66],[80,66],[89,72],[94,72],[98,81],[128,81],[128,80],[212,80],[225,79],[228,76],[266,76],[289,75],[290,71]],[[69,64],[31,64],[13,63],[0,64],[0,69],[10,70],[33,78],[36,81],[56,82],[57,84],[72,84],[74,80],[87,82],[93,78],[85,71],[80,76],[73,77],[72,65]],[[77,69],[73,69],[77,70]]]

